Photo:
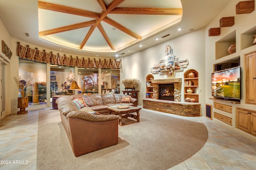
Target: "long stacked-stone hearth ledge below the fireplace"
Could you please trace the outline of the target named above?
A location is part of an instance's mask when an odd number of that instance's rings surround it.
[[[169,100],[154,100],[151,98],[142,99],[143,108],[166,112],[180,116],[200,116],[200,103],[192,102],[174,102]]]

